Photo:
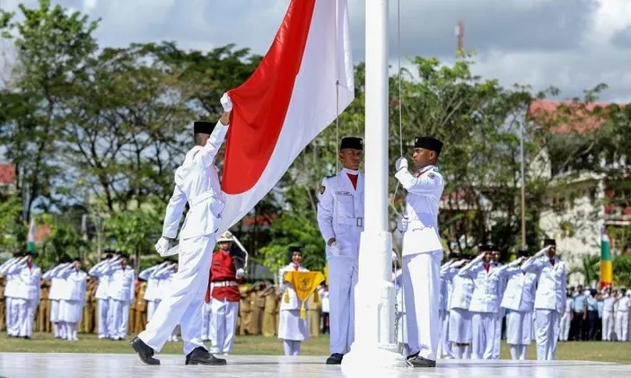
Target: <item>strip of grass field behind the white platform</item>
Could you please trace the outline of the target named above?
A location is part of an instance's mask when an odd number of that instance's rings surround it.
[[[31,353],[132,353],[127,341],[98,339],[96,335],[79,335],[79,341],[57,340],[50,333],[35,333],[31,340],[7,338],[0,334],[0,352]],[[162,354],[182,353],[182,343],[169,342]],[[237,336],[235,355],[282,355],[283,345],[278,338]],[[311,338],[302,343],[304,356],[329,356],[329,337]],[[528,349],[528,358],[536,357],[534,343]],[[510,358],[508,346],[502,345],[502,358]],[[559,360],[583,360],[631,364],[631,342],[561,342],[557,349]]]

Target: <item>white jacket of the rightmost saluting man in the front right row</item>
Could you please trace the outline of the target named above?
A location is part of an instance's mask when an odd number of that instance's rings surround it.
[[[523,263],[521,270],[539,275],[535,309],[556,310],[562,314],[565,312],[567,271],[563,261],[557,257],[554,259],[553,266],[548,257],[530,258]]]

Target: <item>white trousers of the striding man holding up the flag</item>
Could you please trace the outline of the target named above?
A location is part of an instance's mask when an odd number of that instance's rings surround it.
[[[180,324],[184,354],[203,347],[202,305],[208,287],[210,262],[215,248],[215,235],[189,238],[180,242],[178,272],[172,277],[169,292],[162,297],[146,330],[138,335],[146,345],[160,352],[171,333]]]

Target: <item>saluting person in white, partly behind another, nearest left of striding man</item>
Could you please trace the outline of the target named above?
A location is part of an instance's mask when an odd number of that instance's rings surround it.
[[[118,260],[118,257],[108,252],[101,261],[88,270],[89,276],[99,279],[99,285],[96,287],[96,292],[94,293],[94,298],[97,300],[96,321],[99,330],[99,338],[110,338],[112,336],[109,290],[111,275],[105,274],[105,272],[110,271],[107,267],[116,260]],[[52,287],[50,292],[52,293]]]

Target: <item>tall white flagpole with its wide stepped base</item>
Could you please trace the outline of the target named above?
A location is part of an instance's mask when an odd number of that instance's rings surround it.
[[[395,287],[388,231],[388,0],[366,0],[364,233],[355,286],[355,342],[344,370],[406,366],[394,337]]]

